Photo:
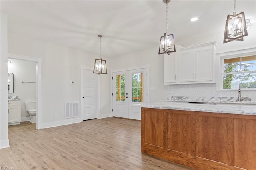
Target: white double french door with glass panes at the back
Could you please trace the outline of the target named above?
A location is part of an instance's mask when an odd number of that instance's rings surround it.
[[[113,116],[141,119],[141,109],[132,104],[147,102],[147,69],[113,73]]]

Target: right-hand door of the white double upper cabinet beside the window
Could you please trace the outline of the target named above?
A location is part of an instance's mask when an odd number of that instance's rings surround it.
[[[212,48],[200,49],[195,52],[195,81],[213,80]]]

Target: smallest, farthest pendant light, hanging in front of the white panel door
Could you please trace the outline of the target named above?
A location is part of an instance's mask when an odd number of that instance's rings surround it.
[[[95,59],[93,73],[96,74],[108,74],[106,60],[101,58],[101,38],[102,35],[98,35],[100,38],[100,59]]]

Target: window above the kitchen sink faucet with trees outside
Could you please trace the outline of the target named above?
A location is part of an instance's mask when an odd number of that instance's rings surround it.
[[[222,59],[222,88],[256,88],[256,55]]]

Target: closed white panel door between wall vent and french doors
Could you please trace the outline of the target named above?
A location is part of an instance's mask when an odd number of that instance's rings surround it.
[[[82,119],[95,119],[98,116],[98,75],[83,69]]]

